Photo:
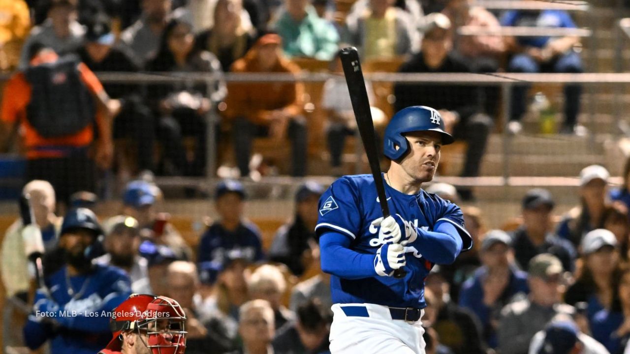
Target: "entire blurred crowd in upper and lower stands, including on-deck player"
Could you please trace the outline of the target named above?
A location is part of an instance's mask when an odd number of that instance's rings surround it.
[[[231,146],[239,176],[260,174],[251,159],[256,137],[287,140],[289,173],[307,174],[313,133],[306,85],[226,82],[225,72],[296,74],[309,59],[341,77],[336,54],[345,45],[356,46],[376,71],[583,71],[579,37],[457,34],[462,26],[576,28],[565,11],[499,13],[468,0],[357,0],[347,11],[340,4],[0,0],[0,69],[15,70],[4,86],[0,151],[14,149],[9,143],[16,140],[27,159],[23,194],[33,207],[33,220],[23,215],[3,239],[1,274],[13,299],[6,306],[34,304],[55,314],[50,321],[24,319],[23,334],[21,326],[5,328],[11,334],[5,345],[49,341],[53,353],[95,353],[111,338],[106,321],[57,311],[111,310],[135,292],[181,304],[187,353],[328,351],[329,276],[319,268],[314,234],[324,186],[300,186],[293,212],[278,211],[290,220],[265,249],[258,227],[244,218],[248,195],[239,181],[219,183],[214,222],[190,243],[169,222],[150,178],[207,174],[207,155],[228,150],[209,151],[208,132],[219,146]],[[101,84],[95,72],[163,73],[157,78],[203,72],[213,80]],[[467,142],[462,176],[479,175],[498,115],[495,88],[398,83],[391,88],[396,100],[379,110],[372,83],[366,86],[377,132],[392,111],[432,106]],[[528,89],[511,93],[513,134],[522,129]],[[580,86],[564,88],[560,133],[579,128],[580,94]],[[339,175],[346,137],[356,130],[352,106],[343,79],[329,79],[321,96],[326,173]],[[212,114],[221,120],[208,119]],[[98,220],[91,211],[96,184],[101,171],[122,169],[116,151],[134,155],[132,181],[112,213],[119,215]],[[579,177],[576,206],[566,215],[554,212],[553,195],[540,188],[522,196],[521,214],[502,230],[488,230],[480,208],[463,208],[474,248],[452,265],[435,266],[425,280],[427,353],[624,353],[630,163],[621,188],[609,188],[602,166],[586,166]],[[456,203],[473,199],[466,188],[427,188]],[[41,244],[29,244],[38,232]],[[38,254],[43,285],[33,297]],[[61,292],[57,301],[44,288]]]

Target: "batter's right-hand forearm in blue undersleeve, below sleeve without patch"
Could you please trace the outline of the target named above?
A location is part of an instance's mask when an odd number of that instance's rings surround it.
[[[414,246],[424,258],[432,263],[451,264],[462,251],[459,232],[449,222],[442,222],[435,231],[416,229],[418,239],[407,246]]]

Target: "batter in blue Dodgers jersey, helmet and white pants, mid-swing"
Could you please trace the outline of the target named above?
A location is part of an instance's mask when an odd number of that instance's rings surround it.
[[[454,141],[440,113],[404,108],[384,135],[382,174],[391,216],[383,219],[372,175],[343,176],[319,200],[321,268],[331,274],[336,353],[425,353],[424,279],[473,241],[457,205],[421,189]],[[403,278],[394,271],[406,271]]]

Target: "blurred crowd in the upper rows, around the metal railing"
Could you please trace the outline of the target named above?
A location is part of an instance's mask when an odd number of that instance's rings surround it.
[[[315,105],[324,120],[321,136],[327,140],[331,173],[341,175],[346,138],[356,130],[341,75],[314,93],[292,81],[226,83],[224,73],[273,77],[317,68],[341,74],[335,57],[347,45],[359,49],[370,71],[583,71],[580,37],[487,34],[505,26],[576,28],[566,11],[489,11],[472,0],[342,5],[332,0],[0,2],[0,68],[17,69],[4,87],[4,97],[12,99],[3,100],[0,151],[24,154],[25,181],[50,181],[66,204],[78,190],[95,191],[100,172],[112,168],[123,171],[125,182],[145,171],[214,174],[207,170],[209,154],[234,166],[227,175],[256,180],[265,173],[260,159],[253,158],[258,137],[270,138],[275,147],[288,144],[290,157],[282,165],[290,166],[288,174],[304,176],[309,140],[320,136],[309,130],[319,127],[309,124]],[[464,27],[477,32],[462,34]],[[94,72],[180,78],[101,84]],[[212,84],[186,73],[205,73]],[[478,176],[498,115],[498,88],[399,83],[387,89],[386,103],[380,105],[370,83],[367,88],[377,132],[405,106],[432,106],[440,110],[447,130],[467,142],[461,175]],[[506,118],[515,134],[522,129],[528,89],[513,88]],[[576,131],[580,93],[579,85],[564,89],[558,132]],[[321,102],[307,102],[314,97]],[[209,149],[211,135],[217,151]],[[461,195],[473,198],[468,190]]]

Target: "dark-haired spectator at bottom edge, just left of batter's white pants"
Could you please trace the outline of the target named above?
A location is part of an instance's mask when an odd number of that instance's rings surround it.
[[[279,329],[273,339],[277,354],[327,354],[332,313],[319,300],[308,300],[297,308],[297,321]]]

